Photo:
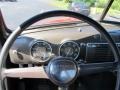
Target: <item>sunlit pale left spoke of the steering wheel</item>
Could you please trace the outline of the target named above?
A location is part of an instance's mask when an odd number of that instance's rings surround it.
[[[48,78],[44,67],[28,67],[28,68],[13,68],[4,69],[2,71],[3,78]]]

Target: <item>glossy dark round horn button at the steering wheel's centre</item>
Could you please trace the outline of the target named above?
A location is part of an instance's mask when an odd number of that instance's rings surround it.
[[[56,85],[67,86],[76,79],[78,66],[76,61],[70,58],[54,58],[48,64],[47,74]]]

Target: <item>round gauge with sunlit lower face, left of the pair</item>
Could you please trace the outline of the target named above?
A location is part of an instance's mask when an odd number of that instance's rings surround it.
[[[31,47],[31,56],[39,62],[48,61],[52,54],[52,48],[46,41],[36,41]]]

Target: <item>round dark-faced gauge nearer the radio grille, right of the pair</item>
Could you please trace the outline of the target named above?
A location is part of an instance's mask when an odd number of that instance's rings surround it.
[[[59,48],[59,55],[62,57],[70,57],[77,59],[80,53],[79,45],[74,41],[67,41]]]

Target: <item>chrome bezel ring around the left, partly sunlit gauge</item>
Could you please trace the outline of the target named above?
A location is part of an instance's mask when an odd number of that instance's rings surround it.
[[[45,63],[45,62],[50,60],[50,57],[48,59],[44,60],[44,61],[41,60],[41,59],[36,59],[35,57],[33,57],[33,55],[32,55],[32,48],[33,48],[33,46],[35,44],[41,43],[41,42],[47,44],[49,46],[49,48],[50,48],[50,52],[52,53],[52,47],[51,47],[51,45],[47,41],[44,41],[44,40],[35,40],[35,41],[33,41],[31,46],[30,46],[30,56],[32,58],[32,61],[34,60],[34,62],[37,62],[37,63]]]

